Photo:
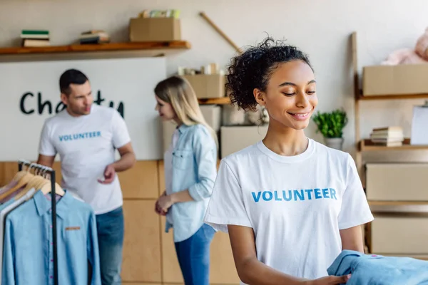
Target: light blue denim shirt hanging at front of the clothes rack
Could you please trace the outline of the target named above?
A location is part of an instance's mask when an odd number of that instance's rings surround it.
[[[58,283],[101,285],[92,208],[66,194],[56,204]],[[38,191],[6,217],[2,285],[54,284],[51,202]]]

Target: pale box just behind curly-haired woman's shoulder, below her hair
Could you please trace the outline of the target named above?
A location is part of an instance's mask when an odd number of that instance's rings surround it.
[[[267,125],[263,126],[236,126],[220,128],[220,152],[221,158],[233,152],[243,150],[263,140],[267,133]]]

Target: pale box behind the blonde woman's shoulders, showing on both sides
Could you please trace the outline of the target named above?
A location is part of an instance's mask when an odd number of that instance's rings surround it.
[[[203,118],[207,121],[208,125],[218,132],[221,125],[221,108],[217,105],[203,105],[200,106]],[[173,133],[177,125],[173,122],[162,123],[162,135],[163,135],[163,152],[168,150],[171,140],[173,139]]]

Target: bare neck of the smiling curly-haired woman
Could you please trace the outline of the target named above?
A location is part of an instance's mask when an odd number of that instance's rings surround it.
[[[277,155],[293,156],[305,152],[308,140],[303,130],[269,124],[263,144]]]

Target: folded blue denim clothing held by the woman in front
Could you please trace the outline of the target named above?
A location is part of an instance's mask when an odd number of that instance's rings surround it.
[[[428,261],[344,250],[327,269],[330,276],[352,274],[346,285],[428,285]]]

